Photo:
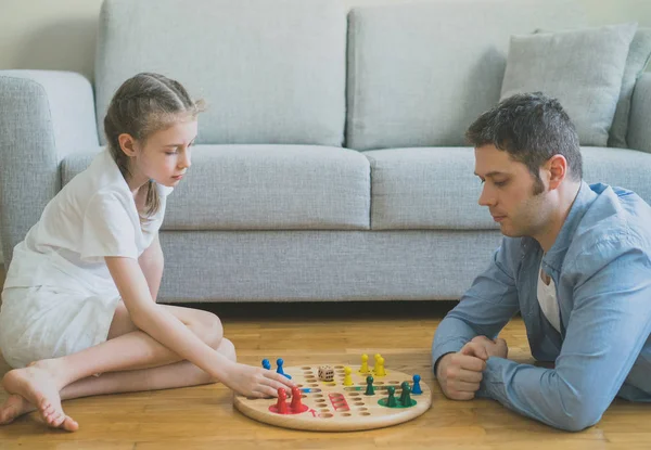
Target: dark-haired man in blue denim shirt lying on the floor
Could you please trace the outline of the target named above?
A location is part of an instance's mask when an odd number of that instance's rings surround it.
[[[615,396],[651,401],[651,207],[582,181],[574,126],[541,93],[505,100],[467,137],[478,203],[505,237],[436,330],[444,394],[567,430],[597,423]],[[518,311],[534,358],[553,369],[507,359],[495,337]]]

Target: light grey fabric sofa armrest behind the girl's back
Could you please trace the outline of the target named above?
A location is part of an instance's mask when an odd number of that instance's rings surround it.
[[[61,189],[60,163],[99,146],[90,82],[79,74],[0,70],[0,240],[15,244]]]

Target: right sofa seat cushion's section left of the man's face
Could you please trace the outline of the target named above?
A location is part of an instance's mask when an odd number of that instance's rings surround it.
[[[365,152],[371,164],[371,228],[496,229],[478,204],[470,147],[388,149]]]

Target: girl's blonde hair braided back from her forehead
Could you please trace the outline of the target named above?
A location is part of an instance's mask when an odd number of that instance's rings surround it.
[[[115,92],[106,117],[104,133],[108,150],[123,177],[130,177],[129,156],[122,151],[118,137],[130,134],[144,144],[154,132],[174,123],[195,118],[204,111],[203,101],[194,101],[178,81],[163,75],[141,73],[126,80]],[[161,206],[154,181],[148,181],[145,216],[155,214]]]

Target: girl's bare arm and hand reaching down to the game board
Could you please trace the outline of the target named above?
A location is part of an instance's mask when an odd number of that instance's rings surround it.
[[[269,396],[279,387],[293,386],[276,372],[230,361],[201,340],[174,314],[152,301],[146,279],[136,259],[105,257],[105,260],[136,326],[180,358],[246,396]]]

